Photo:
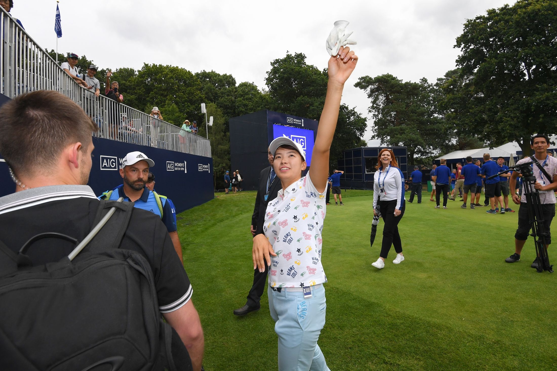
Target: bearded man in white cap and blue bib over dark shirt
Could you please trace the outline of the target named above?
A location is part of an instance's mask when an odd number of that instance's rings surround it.
[[[120,167],[120,176],[124,184],[119,185],[111,191],[103,192],[99,200],[118,200],[124,197],[124,201],[134,202],[134,207],[153,212],[160,216],[160,220],[167,227],[168,234],[174,245],[174,250],[182,260],[182,245],[178,238],[176,226],[176,210],[168,202],[167,197],[160,196],[157,192],[150,191],[145,187],[149,177],[149,167],[155,166],[155,162],[145,154],[135,151],[124,157]]]

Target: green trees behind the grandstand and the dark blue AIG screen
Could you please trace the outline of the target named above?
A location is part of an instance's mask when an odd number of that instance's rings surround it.
[[[49,54],[56,58],[54,51]],[[58,61],[66,61],[66,58],[58,54]],[[93,61],[82,55],[77,68],[80,72],[86,71],[91,63]],[[95,76],[101,83],[101,93],[104,93],[108,70],[110,68],[100,68]],[[192,73],[182,67],[148,63],[144,63],[137,71],[126,67],[113,70],[111,81],[118,81],[125,105],[147,113],[157,106],[165,121],[177,126],[182,126],[185,119],[190,122],[196,120],[199,124],[198,134],[203,137],[206,136],[206,128],[201,103],[207,103],[207,116],[213,116],[214,119],[213,126],[209,128],[209,140],[215,186],[222,188],[222,175],[230,170],[229,118],[268,109],[319,120],[328,76],[326,70],[308,65],[304,54],[287,52],[284,58],[271,62],[265,90],[260,90],[252,82],[237,83],[227,73]],[[354,108],[341,105],[331,146],[331,169],[336,168],[343,150],[367,145],[361,138],[366,127],[365,117]]]

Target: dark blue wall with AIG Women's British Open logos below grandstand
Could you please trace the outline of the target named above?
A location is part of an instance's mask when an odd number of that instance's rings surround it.
[[[172,199],[177,212],[201,205],[214,197],[213,159],[210,157],[103,138],[93,138],[93,144],[95,150],[89,185],[97,195],[122,184],[118,171],[121,160],[128,152],[141,151],[155,162],[155,166],[150,169],[155,175],[155,190]],[[0,159],[0,196],[10,194],[15,189],[8,166]]]

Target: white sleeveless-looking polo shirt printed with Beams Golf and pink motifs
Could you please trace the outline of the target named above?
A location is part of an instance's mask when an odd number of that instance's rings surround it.
[[[325,191],[317,192],[309,173],[278,191],[269,202],[263,231],[277,256],[271,256],[272,287],[304,287],[327,281],[321,265]]]

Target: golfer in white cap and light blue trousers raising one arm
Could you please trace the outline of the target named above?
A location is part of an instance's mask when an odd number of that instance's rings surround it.
[[[344,83],[358,57],[341,47],[329,59],[325,106],[309,173],[302,147],[287,137],[271,142],[273,167],[282,189],[269,195],[263,231],[253,238],[253,268],[269,266],[269,310],[278,335],[279,370],[329,370],[317,345],[325,325],[326,282],[321,265],[329,151],[339,116]],[[275,253],[276,251],[276,253]]]

